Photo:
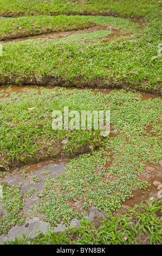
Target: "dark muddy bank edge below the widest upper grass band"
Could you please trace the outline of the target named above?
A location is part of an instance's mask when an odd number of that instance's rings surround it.
[[[76,77],[72,80],[63,77],[48,76],[44,78],[37,78],[35,76],[26,76],[25,78],[17,75],[13,77],[0,77],[0,87],[7,86],[8,84],[16,85],[16,81],[20,86],[59,86],[66,88],[81,88],[81,89],[134,89],[137,92],[151,93],[157,96],[162,95],[161,83],[157,88],[147,88],[148,81],[141,81],[138,84],[132,84],[127,81],[116,81],[113,78],[93,78],[89,81],[85,77]],[[145,84],[146,90],[140,89],[140,85]],[[142,86],[144,88],[144,86]]]

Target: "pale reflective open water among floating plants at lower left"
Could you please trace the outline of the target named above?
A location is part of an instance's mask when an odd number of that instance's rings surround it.
[[[46,178],[55,178],[58,175],[64,174],[68,162],[70,162],[70,160],[64,159],[57,162],[47,161],[31,164],[29,166],[14,169],[9,174],[6,174],[3,179],[0,179],[0,181],[3,180],[3,182],[7,182],[10,185],[21,186],[22,200],[24,202],[22,212],[24,215],[30,216],[26,218],[24,225],[15,225],[9,230],[9,233],[6,236],[1,235],[0,244],[3,244],[4,241],[14,240],[15,235],[18,237],[21,234],[32,239],[38,230],[40,230],[41,233],[46,233],[48,228],[50,229],[50,224],[41,221],[41,216],[36,214],[36,202],[41,198],[43,187],[46,184]],[[28,194],[28,192],[31,192],[32,196],[30,193],[28,196],[25,196],[25,193]],[[79,210],[80,202],[73,201],[73,203],[70,204],[70,208]],[[3,220],[5,216],[7,216],[7,212],[3,209],[3,205],[0,204],[0,220]],[[89,209],[87,220],[98,221],[102,216],[102,211],[98,211],[95,207],[91,207]],[[74,218],[70,221],[69,227],[79,226],[79,221],[79,219]],[[67,225],[61,222],[60,224],[57,224],[54,231],[59,232],[66,228]]]

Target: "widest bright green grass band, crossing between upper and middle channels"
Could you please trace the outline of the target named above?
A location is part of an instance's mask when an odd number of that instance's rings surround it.
[[[83,78],[90,86],[90,80],[101,77],[107,86],[126,82],[129,88],[160,92],[161,58],[152,60],[158,56],[158,33],[158,28],[148,26],[144,34],[101,44],[67,44],[66,40],[3,44],[0,82],[41,84],[44,78],[52,76],[56,81],[62,78],[67,85],[75,85],[77,78]]]

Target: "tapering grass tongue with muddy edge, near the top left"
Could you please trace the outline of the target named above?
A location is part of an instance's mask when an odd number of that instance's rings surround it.
[[[1,40],[49,32],[88,28],[90,23],[79,16],[25,16],[0,19]],[[10,34],[11,33],[11,34]]]

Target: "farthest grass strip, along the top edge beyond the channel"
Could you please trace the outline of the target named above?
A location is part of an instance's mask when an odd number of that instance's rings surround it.
[[[26,0],[25,4],[21,0],[8,0],[0,2],[0,13],[1,15],[33,15],[33,14],[107,14],[108,16],[121,15],[121,16],[152,16],[154,11],[160,12],[159,7],[161,3],[157,1],[144,1],[144,0],[133,0],[133,1],[88,1],[84,2],[79,0],[57,0],[38,2],[37,0],[29,1]]]

